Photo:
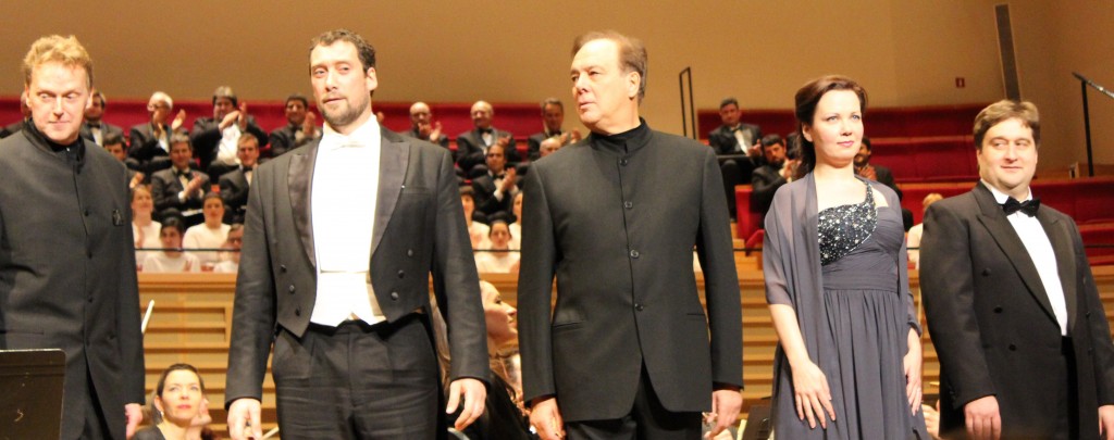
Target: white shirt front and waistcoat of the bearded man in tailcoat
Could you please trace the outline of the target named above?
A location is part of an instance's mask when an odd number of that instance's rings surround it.
[[[311,223],[317,296],[310,321],[385,320],[371,287],[371,237],[379,191],[380,128],[375,118],[350,136],[328,124],[313,168]]]

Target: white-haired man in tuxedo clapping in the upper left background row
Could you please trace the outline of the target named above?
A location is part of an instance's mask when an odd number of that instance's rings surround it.
[[[170,119],[174,100],[165,92],[156,91],[147,100],[149,120],[131,127],[128,136],[128,157],[139,163],[139,171],[147,176],[170,167],[170,138],[182,131],[186,121],[186,110]]]

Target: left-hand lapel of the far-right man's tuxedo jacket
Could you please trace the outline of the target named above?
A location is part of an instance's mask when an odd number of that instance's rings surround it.
[[[975,201],[978,202],[979,210],[981,211],[978,216],[978,221],[983,223],[983,227],[990,233],[994,241],[998,243],[998,248],[1009,259],[1017,274],[1025,282],[1025,287],[1028,288],[1033,299],[1040,304],[1045,313],[1048,314],[1048,318],[1055,321],[1056,313],[1053,312],[1052,303],[1048,301],[1048,293],[1045,292],[1044,284],[1040,283],[1040,276],[1037,273],[1037,268],[1033,263],[1033,259],[1029,258],[1029,252],[1025,249],[1025,244],[1022,243],[1022,239],[1017,237],[1014,226],[1006,218],[1006,212],[1001,210],[1001,207],[994,200],[994,194],[981,182],[975,187],[973,192]],[[976,249],[975,251],[988,252],[990,250]]]

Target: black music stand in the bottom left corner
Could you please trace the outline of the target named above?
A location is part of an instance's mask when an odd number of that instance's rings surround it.
[[[11,439],[57,439],[61,434],[66,353],[61,350],[0,350],[0,432]]]

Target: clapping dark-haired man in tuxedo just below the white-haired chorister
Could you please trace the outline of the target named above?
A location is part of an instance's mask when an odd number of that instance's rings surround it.
[[[150,194],[159,219],[180,217],[187,226],[202,222],[202,207],[208,192],[208,174],[194,169],[194,150],[186,133],[170,138],[170,168],[150,177]]]

